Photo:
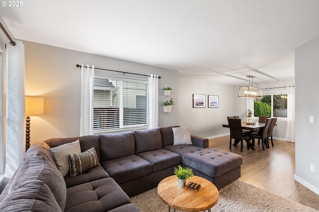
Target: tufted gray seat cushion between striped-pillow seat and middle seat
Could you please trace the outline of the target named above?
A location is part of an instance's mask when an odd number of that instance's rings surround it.
[[[152,173],[152,165],[137,155],[101,161],[100,164],[119,184]]]

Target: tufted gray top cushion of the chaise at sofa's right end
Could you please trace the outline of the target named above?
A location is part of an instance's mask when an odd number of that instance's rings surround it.
[[[241,166],[243,158],[224,150],[205,148],[183,154],[182,163],[210,177],[218,177]]]

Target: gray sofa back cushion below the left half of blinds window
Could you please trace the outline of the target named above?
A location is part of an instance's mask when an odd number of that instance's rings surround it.
[[[135,154],[133,132],[100,134],[101,160],[112,160]]]

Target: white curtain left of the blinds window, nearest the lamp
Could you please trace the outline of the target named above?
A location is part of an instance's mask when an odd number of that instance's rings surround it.
[[[93,134],[94,66],[81,67],[81,120],[80,135]]]

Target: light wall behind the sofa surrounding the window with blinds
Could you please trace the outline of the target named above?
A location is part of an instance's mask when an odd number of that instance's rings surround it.
[[[31,117],[31,145],[52,137],[79,136],[81,71],[76,64],[81,63],[94,65],[96,68],[145,75],[158,74],[161,77],[159,126],[178,124],[178,102],[175,101],[170,113],[163,113],[161,106],[166,98],[162,90],[165,85],[172,88],[169,98],[177,100],[177,71],[27,41],[23,41],[23,44],[26,96],[44,97],[44,115]],[[115,72],[106,73],[115,75]],[[128,74],[125,76],[137,77]]]

